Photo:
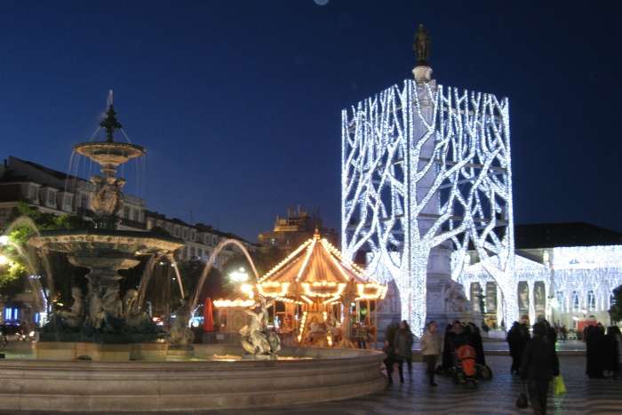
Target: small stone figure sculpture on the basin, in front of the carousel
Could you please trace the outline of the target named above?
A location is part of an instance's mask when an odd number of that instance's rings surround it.
[[[267,302],[265,297],[259,296],[259,302],[250,310],[244,310],[251,315],[251,323],[240,329],[242,347],[256,359],[275,359],[276,353],[281,350],[278,334],[267,327],[267,309],[273,304],[274,300]],[[259,311],[254,311],[257,307]]]

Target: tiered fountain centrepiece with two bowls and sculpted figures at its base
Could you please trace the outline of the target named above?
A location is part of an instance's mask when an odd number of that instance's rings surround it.
[[[100,165],[101,175],[91,178],[92,227],[42,232],[28,241],[41,251],[66,252],[71,264],[89,269],[85,300],[82,292],[75,289],[71,310],[52,315],[36,345],[40,357],[118,360],[124,356],[140,357],[145,350],[165,355],[164,333],[136,307],[135,290],[126,291],[122,297],[119,281],[123,277],[118,271],[136,267],[141,256],[170,255],[183,243],[159,234],[116,228],[125,184],[123,178],[117,177],[117,170],[120,165],[144,156],[146,150],[114,140],[115,131],[122,125],[112,104],[100,126],[106,131],[106,140],[75,147],[77,154]]]

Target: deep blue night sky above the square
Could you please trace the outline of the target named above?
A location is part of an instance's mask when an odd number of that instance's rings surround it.
[[[4,3],[0,157],[67,171],[114,89],[149,209],[253,241],[297,204],[339,228],[340,110],[412,76],[423,22],[439,83],[510,99],[516,222],[622,230],[620,2],[323,3]]]

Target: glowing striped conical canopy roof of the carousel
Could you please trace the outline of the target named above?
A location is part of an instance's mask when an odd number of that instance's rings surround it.
[[[339,250],[316,233],[261,277],[257,285],[263,295],[271,297],[333,297],[348,284],[368,291],[370,298],[382,298],[386,291],[386,287],[365,278],[361,267],[342,259]]]

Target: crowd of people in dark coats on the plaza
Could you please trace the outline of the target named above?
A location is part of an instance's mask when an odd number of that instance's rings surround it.
[[[536,414],[546,414],[546,401],[549,385],[560,375],[560,363],[556,353],[556,342],[565,339],[565,328],[551,325],[544,318],[538,319],[530,330],[528,316],[523,315],[520,322],[514,322],[507,332],[512,365],[510,371],[520,376],[529,403]],[[586,327],[582,338],[586,342],[586,374],[589,378],[612,377],[618,379],[622,373],[622,335],[618,326],[612,325],[606,331],[602,324],[594,323]],[[405,321],[390,325],[386,331],[383,350],[387,354],[384,361],[389,385],[393,383],[394,367],[397,367],[400,382],[404,382],[404,363],[412,381],[412,346],[414,336]],[[427,369],[427,381],[435,387],[436,373],[451,373],[459,364],[459,348],[468,346],[474,350],[474,360],[480,367],[486,366],[482,335],[474,323],[455,321],[448,324],[439,335],[435,322],[427,323],[426,331],[420,339],[421,355]],[[440,362],[439,362],[440,359]],[[490,369],[489,369],[490,370]],[[518,404],[518,403],[517,403]]]

